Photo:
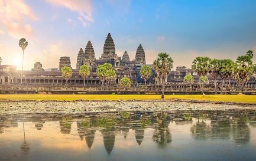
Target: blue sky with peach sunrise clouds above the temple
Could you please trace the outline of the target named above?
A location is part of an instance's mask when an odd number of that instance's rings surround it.
[[[21,69],[18,42],[26,38],[24,70],[37,61],[58,68],[61,56],[76,68],[89,40],[98,59],[108,33],[119,57],[127,50],[133,60],[142,44],[147,64],[167,52],[174,68],[191,68],[199,56],[235,60],[256,52],[254,0],[0,0],[0,19],[2,64]]]

